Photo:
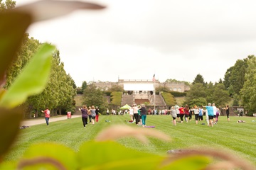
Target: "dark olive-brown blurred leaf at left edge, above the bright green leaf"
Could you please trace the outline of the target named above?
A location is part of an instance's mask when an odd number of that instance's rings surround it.
[[[0,13],[0,84],[30,24],[31,15],[28,13],[17,11]]]

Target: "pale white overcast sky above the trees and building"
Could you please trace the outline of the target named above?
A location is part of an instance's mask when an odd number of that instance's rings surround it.
[[[16,6],[31,0],[16,0]],[[34,23],[28,33],[60,50],[65,71],[82,81],[223,79],[255,55],[254,0],[101,0],[102,11],[75,11]],[[47,12],[47,9],[46,9]]]

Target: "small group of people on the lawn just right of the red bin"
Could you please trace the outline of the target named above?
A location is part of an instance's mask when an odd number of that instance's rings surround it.
[[[100,109],[96,106],[87,106],[83,105],[82,108],[80,109],[82,113],[82,125],[84,128],[88,124],[88,118],[89,118],[89,123],[92,123],[92,125],[95,124],[95,122],[99,122],[99,113]]]

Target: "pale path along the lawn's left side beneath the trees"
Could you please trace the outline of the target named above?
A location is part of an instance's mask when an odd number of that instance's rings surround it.
[[[81,115],[72,115],[71,116],[71,118],[79,118],[79,117],[81,117]],[[63,115],[58,118],[51,117],[49,120],[49,123],[56,122],[58,120],[66,120],[66,119],[68,119],[67,115]],[[46,123],[46,120],[44,118],[23,120],[21,123],[21,126],[23,126],[23,125],[24,126],[39,125],[39,124],[43,124],[43,123]]]

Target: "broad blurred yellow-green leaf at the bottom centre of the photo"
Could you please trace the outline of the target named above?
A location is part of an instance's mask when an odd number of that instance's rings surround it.
[[[138,152],[110,141],[85,142],[78,152],[81,169],[156,169],[163,160],[159,155]]]

